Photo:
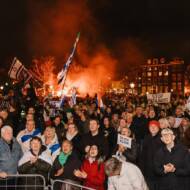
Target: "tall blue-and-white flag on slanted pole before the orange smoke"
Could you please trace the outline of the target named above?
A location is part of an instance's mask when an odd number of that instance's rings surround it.
[[[72,52],[71,52],[69,58],[67,59],[67,62],[65,63],[63,69],[57,75],[58,84],[64,84],[64,82],[66,80],[67,72],[68,72],[70,64],[72,63],[79,38],[80,38],[80,32],[77,34],[77,38],[75,40]]]

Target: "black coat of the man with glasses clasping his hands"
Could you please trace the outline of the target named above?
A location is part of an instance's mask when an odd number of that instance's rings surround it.
[[[164,165],[171,163],[176,168],[173,173],[165,173]],[[162,147],[154,157],[154,169],[159,176],[158,190],[188,190],[189,152],[181,144],[175,144],[171,152]]]

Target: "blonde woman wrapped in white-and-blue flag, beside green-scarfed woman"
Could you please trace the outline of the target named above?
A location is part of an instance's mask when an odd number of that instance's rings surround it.
[[[58,142],[54,127],[46,127],[44,134],[42,135],[42,143],[46,146],[47,151],[49,151],[52,160],[54,161],[60,153],[60,144]]]

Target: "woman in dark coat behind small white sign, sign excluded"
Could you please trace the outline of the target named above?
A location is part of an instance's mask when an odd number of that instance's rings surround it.
[[[131,136],[131,130],[128,127],[124,127],[121,130],[121,135],[123,135],[125,137],[130,137]],[[127,148],[127,147],[124,147],[123,145],[119,144],[114,153],[115,153],[117,158],[119,158],[123,161],[136,163],[137,144],[136,144],[134,139],[132,140],[131,148]]]

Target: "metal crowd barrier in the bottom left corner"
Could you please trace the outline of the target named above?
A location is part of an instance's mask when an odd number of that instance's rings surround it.
[[[0,178],[0,190],[45,190],[44,176],[35,174],[16,174]]]

